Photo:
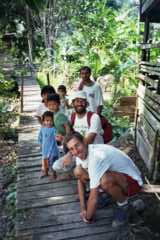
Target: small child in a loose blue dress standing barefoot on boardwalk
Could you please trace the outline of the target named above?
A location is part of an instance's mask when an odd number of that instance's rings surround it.
[[[53,163],[59,157],[55,135],[56,130],[53,127],[53,113],[46,111],[42,115],[42,127],[38,136],[38,142],[42,146],[41,177],[48,176],[49,171],[52,173],[53,178],[57,177],[56,172],[52,169]]]

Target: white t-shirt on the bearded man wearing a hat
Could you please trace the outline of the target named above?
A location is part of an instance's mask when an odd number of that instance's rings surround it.
[[[104,143],[101,120],[96,113],[91,116],[90,126],[87,121],[87,113],[83,118],[78,118],[76,115],[73,128],[83,136],[87,136],[89,133],[96,133],[97,135],[94,139],[94,144]]]

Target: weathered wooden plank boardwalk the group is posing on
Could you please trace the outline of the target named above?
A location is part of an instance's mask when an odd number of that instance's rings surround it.
[[[115,231],[111,222],[113,207],[97,210],[96,222],[87,225],[79,216],[76,181],[40,179],[41,154],[37,145],[38,124],[34,117],[40,101],[39,86],[25,79],[24,115],[19,133],[17,159],[18,240],[124,240],[128,227]]]

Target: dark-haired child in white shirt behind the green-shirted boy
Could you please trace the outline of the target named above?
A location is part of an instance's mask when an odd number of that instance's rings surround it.
[[[41,97],[42,97],[42,102],[38,106],[36,110],[36,117],[38,118],[38,122],[42,124],[42,115],[44,112],[48,111],[47,107],[47,96],[49,94],[54,94],[55,89],[52,86],[44,86],[41,90]]]

